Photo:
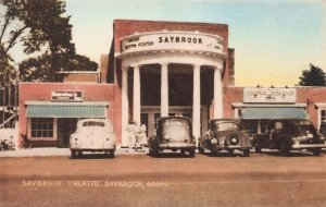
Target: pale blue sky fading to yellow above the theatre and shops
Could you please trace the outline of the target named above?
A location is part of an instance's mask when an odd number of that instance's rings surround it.
[[[113,21],[228,24],[236,86],[293,86],[310,63],[326,72],[326,0],[66,0],[73,42],[99,63]]]

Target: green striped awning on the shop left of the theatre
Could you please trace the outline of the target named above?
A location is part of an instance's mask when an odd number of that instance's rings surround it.
[[[28,118],[105,118],[105,106],[28,105]]]

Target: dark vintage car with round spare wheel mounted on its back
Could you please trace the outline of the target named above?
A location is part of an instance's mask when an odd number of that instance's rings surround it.
[[[220,150],[228,150],[234,154],[235,149],[243,151],[249,157],[252,148],[250,138],[241,130],[240,120],[236,119],[213,119],[210,120],[209,131],[199,137],[199,153],[210,149],[212,154]]]

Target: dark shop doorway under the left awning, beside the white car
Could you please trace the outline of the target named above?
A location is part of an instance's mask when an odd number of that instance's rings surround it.
[[[58,147],[66,148],[70,146],[70,137],[76,131],[77,119],[58,119]]]

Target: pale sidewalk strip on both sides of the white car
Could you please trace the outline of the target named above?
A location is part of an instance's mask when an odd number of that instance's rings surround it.
[[[128,150],[127,148],[117,148],[115,155],[145,155],[146,151]],[[7,150],[0,151],[1,157],[53,157],[53,156],[64,156],[70,157],[70,148],[57,148],[57,147],[41,147],[41,148],[30,148],[30,149],[16,149],[16,150]]]

